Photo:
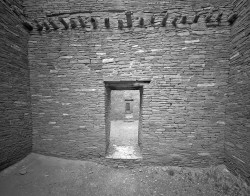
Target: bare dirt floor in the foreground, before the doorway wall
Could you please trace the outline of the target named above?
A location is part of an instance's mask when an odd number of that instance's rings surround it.
[[[30,154],[0,173],[1,196],[248,195],[246,191],[247,186],[223,165],[213,169],[115,169]]]

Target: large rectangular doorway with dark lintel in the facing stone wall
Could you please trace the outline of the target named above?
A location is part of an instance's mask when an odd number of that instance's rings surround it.
[[[106,84],[106,158],[141,159],[143,87]]]

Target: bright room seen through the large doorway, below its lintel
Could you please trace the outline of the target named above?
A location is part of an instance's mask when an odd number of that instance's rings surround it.
[[[140,91],[112,90],[110,107],[110,143],[107,158],[138,159]]]

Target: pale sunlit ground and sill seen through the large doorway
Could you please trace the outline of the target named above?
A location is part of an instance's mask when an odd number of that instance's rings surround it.
[[[137,121],[111,121],[110,145],[107,158],[139,159]]]

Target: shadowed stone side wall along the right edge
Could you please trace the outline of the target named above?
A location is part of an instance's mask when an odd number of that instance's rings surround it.
[[[232,5],[238,19],[231,30],[225,156],[231,171],[250,183],[250,4],[234,0]]]

